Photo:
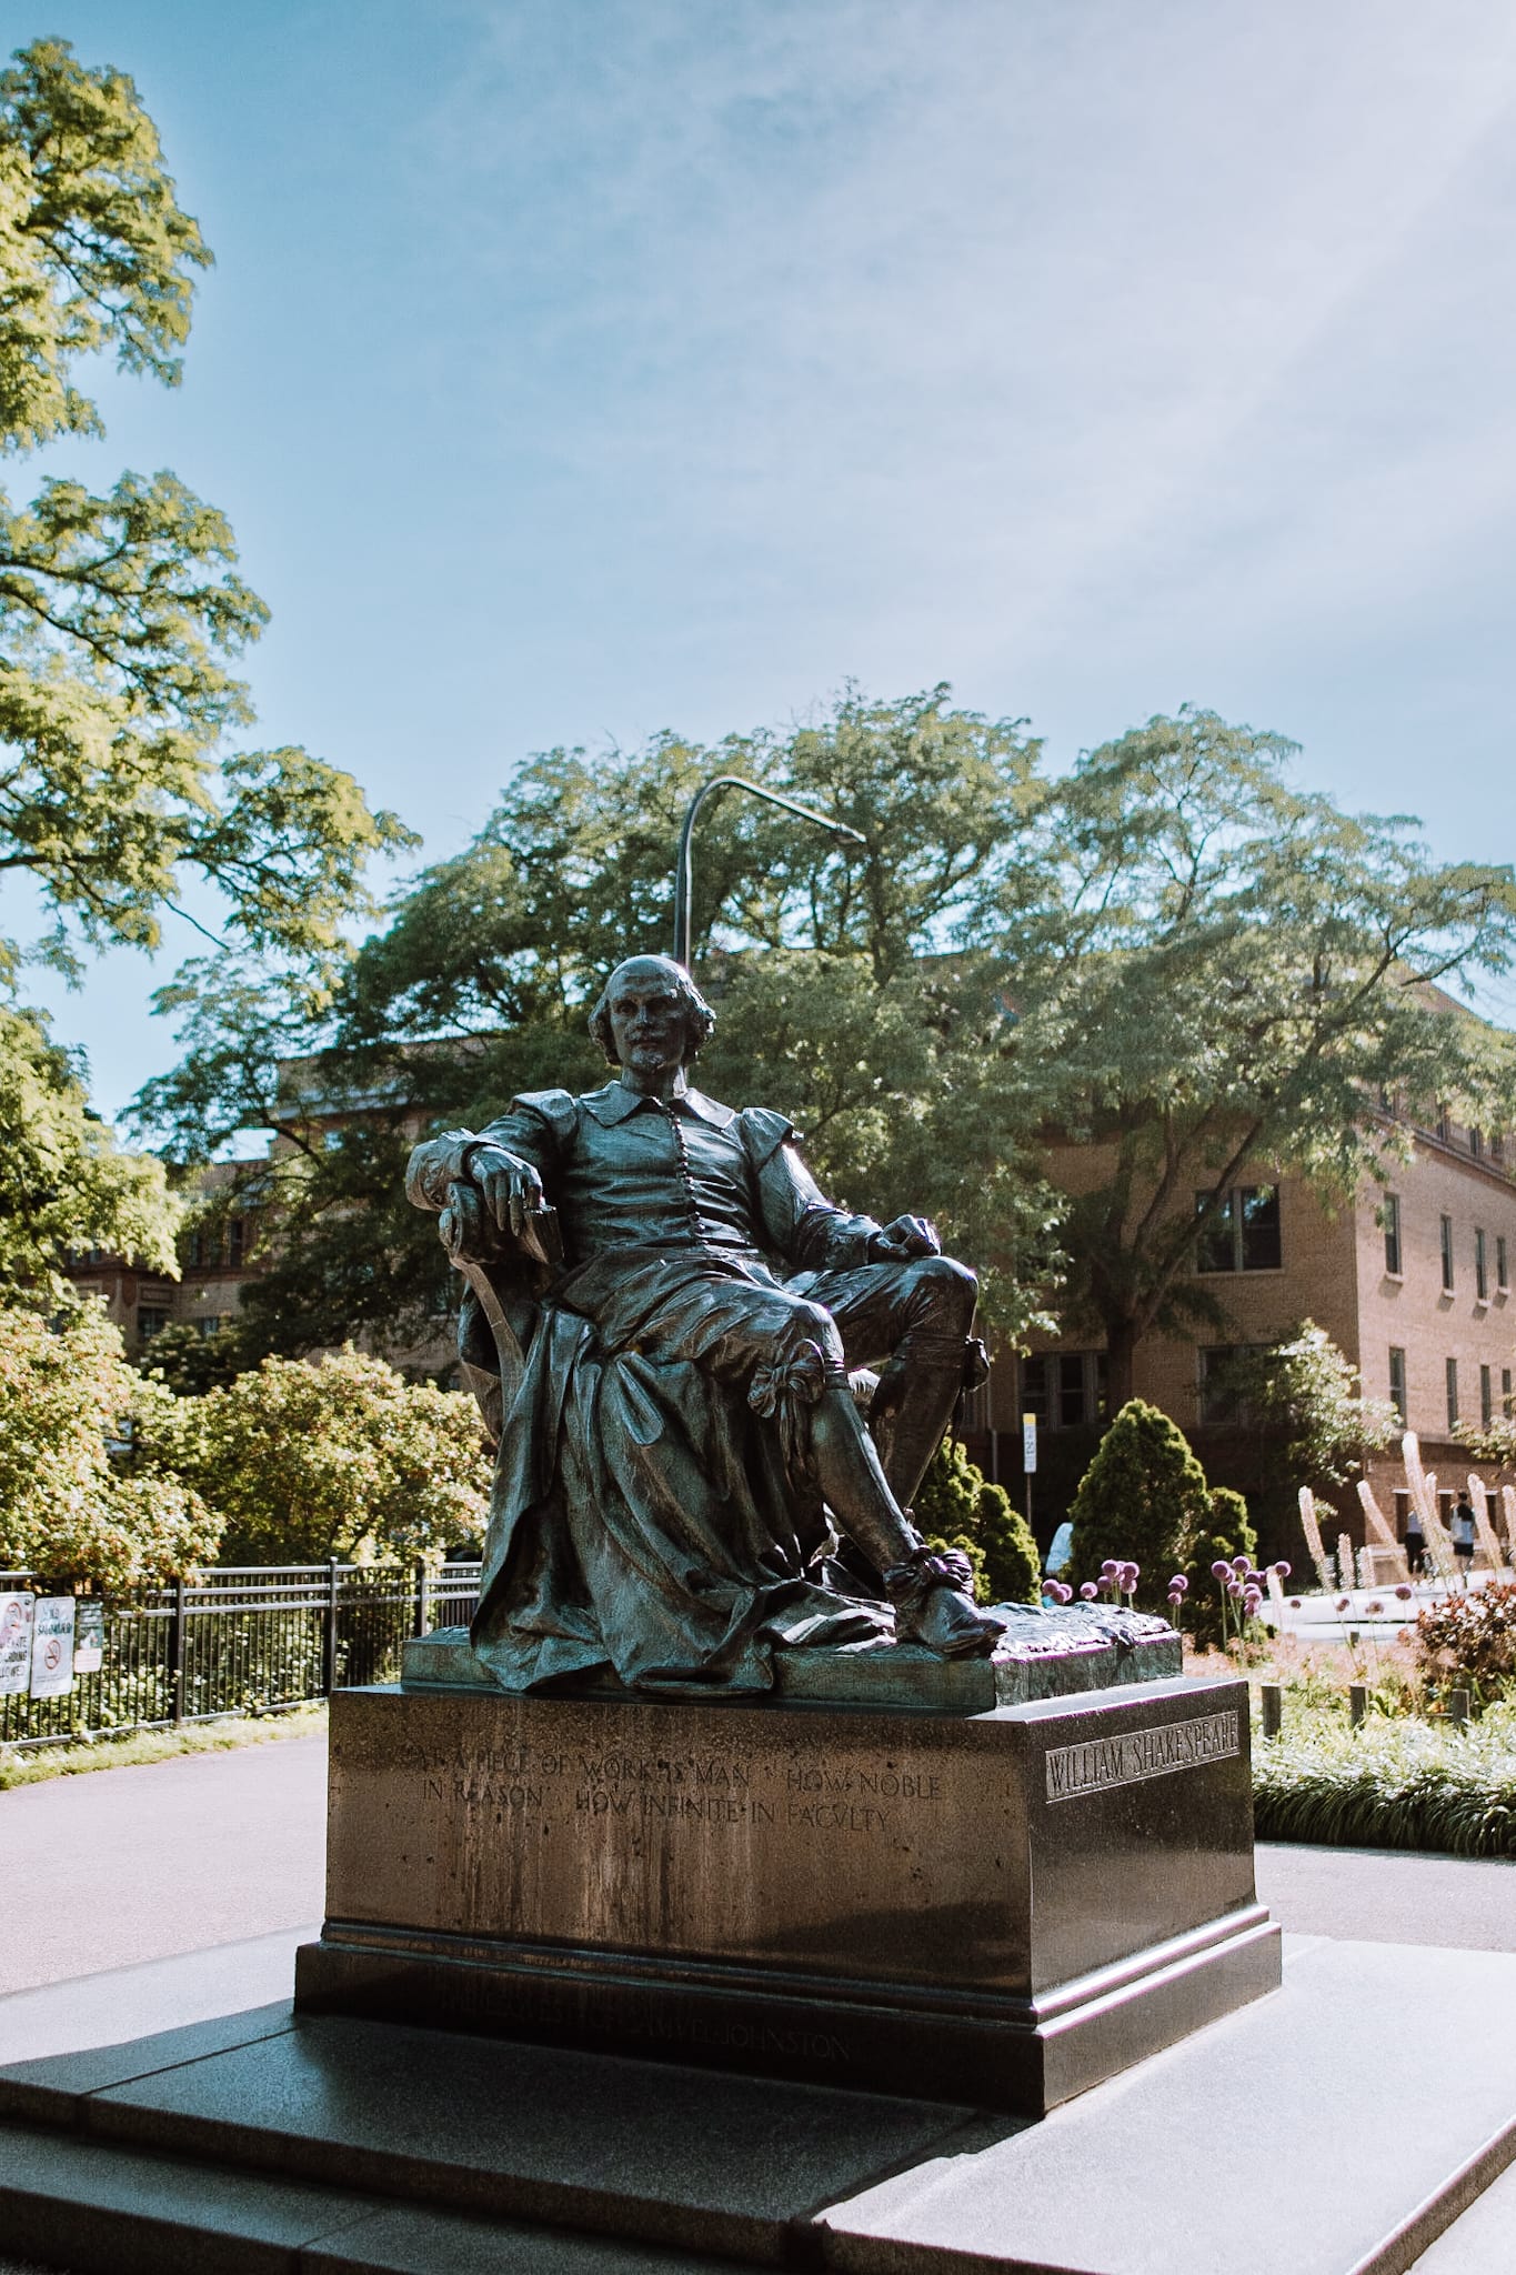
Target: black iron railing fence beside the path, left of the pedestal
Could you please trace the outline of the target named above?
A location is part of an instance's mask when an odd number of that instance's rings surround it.
[[[100,1602],[68,1579],[0,1572],[0,1595]],[[480,1565],[218,1565],[105,1602],[100,1665],[59,1697],[0,1695],[0,1745],[61,1745],[218,1715],[280,1713],[400,1674],[409,1636],[466,1627]]]

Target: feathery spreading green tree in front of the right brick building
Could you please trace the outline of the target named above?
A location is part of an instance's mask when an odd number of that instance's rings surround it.
[[[1105,1340],[1111,1404],[1146,1335],[1227,1324],[1193,1272],[1232,1188],[1350,1199],[1409,1149],[1382,1090],[1511,1115],[1509,1037],[1432,985],[1509,967],[1511,871],[1289,787],[1291,748],[1152,719],[1055,787],[1000,887],[1025,1074],[1080,1149],[1064,1329]]]

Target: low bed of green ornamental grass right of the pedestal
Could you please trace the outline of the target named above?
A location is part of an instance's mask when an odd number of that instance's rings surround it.
[[[1296,1715],[1252,1749],[1259,1840],[1516,1856],[1516,1702],[1477,1722]]]

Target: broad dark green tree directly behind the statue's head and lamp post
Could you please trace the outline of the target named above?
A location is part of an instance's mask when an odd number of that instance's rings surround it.
[[[986,1315],[1021,1329],[1055,1201],[1000,974],[973,942],[975,894],[1005,883],[1034,803],[1034,755],[1016,723],[957,712],[941,687],[846,694],[789,737],[707,751],[673,735],[595,764],[552,751],[473,846],[398,896],[330,1017],[270,967],[186,971],[161,996],[184,1060],[139,1103],[186,1160],[234,1128],[280,1138],[282,1233],[245,1297],[248,1347],[361,1331],[405,1349],[434,1326],[448,1272],[400,1194],[416,1117],[477,1128],[516,1090],[602,1078],[589,1006],[618,956],[668,942],[680,817],[718,771],[823,803],[866,844],[843,858],[741,796],[707,810],[695,967],[718,1028],[702,1087],[789,1112],[839,1199],[936,1215],[982,1267]]]

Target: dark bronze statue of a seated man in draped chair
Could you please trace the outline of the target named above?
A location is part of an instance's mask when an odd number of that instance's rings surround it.
[[[782,1115],[693,1090],[711,1026],[682,965],[634,956],[591,1015],[611,1083],[518,1097],[411,1156],[416,1206],[484,1226],[507,1269],[550,1258],[507,1370],[473,1624],[511,1690],[605,1668],[764,1690],[775,1649],[893,1627],[961,1658],[1000,1636],[968,1561],[909,1513],[980,1349],[975,1276],[923,1217],[834,1208]],[[480,1331],[466,1306],[475,1367]]]

